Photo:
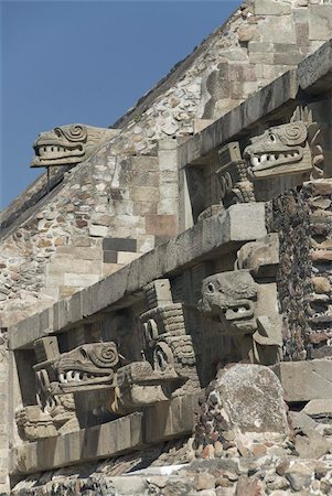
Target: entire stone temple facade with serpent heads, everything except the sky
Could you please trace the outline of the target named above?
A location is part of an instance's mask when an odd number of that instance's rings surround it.
[[[331,33],[330,1],[247,1],[111,128],[36,138],[1,494],[332,494]]]

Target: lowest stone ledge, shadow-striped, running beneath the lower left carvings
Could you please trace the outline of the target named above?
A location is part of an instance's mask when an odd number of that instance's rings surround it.
[[[118,456],[172,438],[190,434],[199,392],[148,407],[108,423],[13,448],[11,475]],[[183,414],[185,413],[185,414]]]

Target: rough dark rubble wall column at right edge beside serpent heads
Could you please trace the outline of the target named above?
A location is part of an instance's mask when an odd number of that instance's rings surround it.
[[[306,183],[272,201],[280,240],[278,292],[287,360],[332,355],[332,181]]]

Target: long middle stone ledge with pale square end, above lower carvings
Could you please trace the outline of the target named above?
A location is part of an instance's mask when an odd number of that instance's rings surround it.
[[[10,327],[10,347],[31,347],[39,337],[68,328],[124,298],[129,300],[153,279],[168,277],[204,258],[219,256],[266,235],[264,203],[233,205],[106,279]]]

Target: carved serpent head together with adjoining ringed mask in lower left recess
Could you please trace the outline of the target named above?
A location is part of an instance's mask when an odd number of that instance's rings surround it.
[[[144,302],[110,313],[104,323],[35,342],[36,405],[15,416],[24,441],[108,421],[201,388],[183,304],[173,302],[169,279],[151,282],[143,294]],[[72,349],[61,353],[66,347]]]

